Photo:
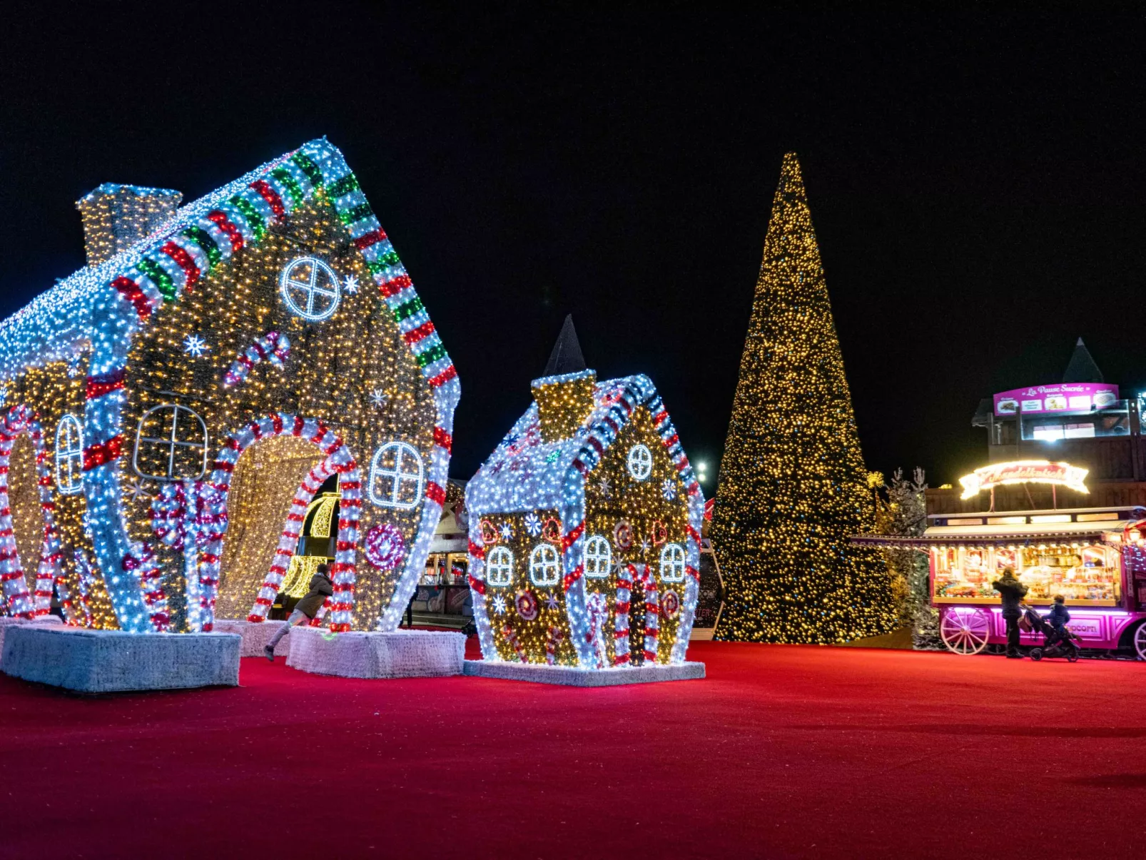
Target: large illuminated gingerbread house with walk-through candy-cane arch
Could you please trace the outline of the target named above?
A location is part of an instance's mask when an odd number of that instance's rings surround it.
[[[394,630],[460,391],[421,298],[325,139],[179,201],[96,188],[88,265],[0,323],[3,610],[260,621],[324,516],[325,623]]]

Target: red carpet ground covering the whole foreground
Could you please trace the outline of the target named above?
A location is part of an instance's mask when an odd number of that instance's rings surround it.
[[[0,678],[5,858],[1141,857],[1146,664],[699,642],[708,680],[80,698]]]

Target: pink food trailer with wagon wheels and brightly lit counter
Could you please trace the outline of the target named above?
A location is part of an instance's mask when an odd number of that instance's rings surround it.
[[[1084,649],[1146,659],[1146,508],[1072,508],[932,514],[919,537],[862,535],[856,542],[926,552],[940,634],[955,654],[1006,644],[999,594],[1004,568],[1043,615],[1061,594]],[[1039,634],[1022,644],[1042,644]]]

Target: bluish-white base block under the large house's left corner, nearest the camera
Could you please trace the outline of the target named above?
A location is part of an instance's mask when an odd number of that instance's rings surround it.
[[[234,633],[124,633],[49,626],[9,627],[6,674],[80,693],[238,686]]]

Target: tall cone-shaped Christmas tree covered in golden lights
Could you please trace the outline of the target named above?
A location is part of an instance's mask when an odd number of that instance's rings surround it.
[[[784,156],[740,359],[711,538],[716,639],[843,642],[896,623],[800,164]]]

